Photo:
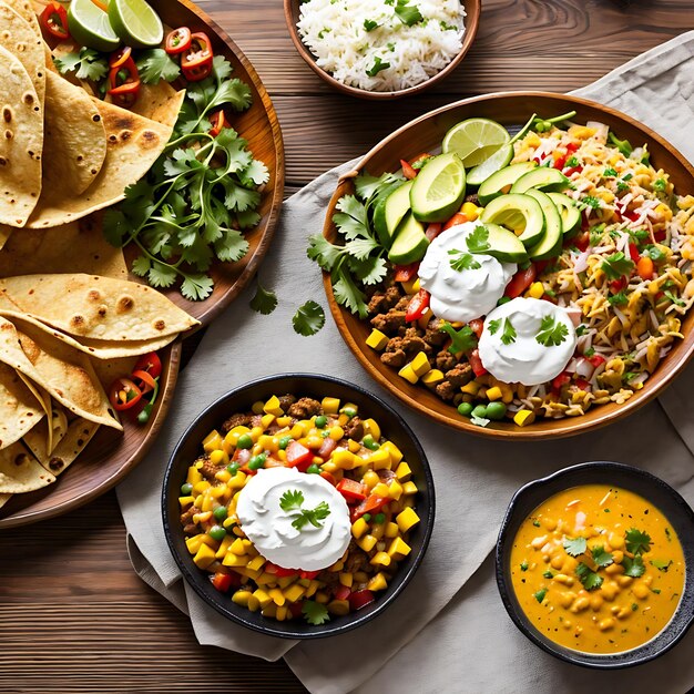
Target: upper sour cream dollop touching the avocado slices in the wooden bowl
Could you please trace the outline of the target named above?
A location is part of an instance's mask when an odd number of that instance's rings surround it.
[[[480,265],[477,269],[451,267],[453,256],[448,252],[467,252],[466,238],[478,226],[478,222],[466,222],[446,229],[429,244],[419,265],[419,282],[431,294],[433,315],[451,323],[469,323],[488,314],[518,269],[514,263],[502,263],[481,253],[473,256]]]

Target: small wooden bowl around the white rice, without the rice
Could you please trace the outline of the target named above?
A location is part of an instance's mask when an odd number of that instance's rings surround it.
[[[353,96],[358,96],[360,99],[372,99],[372,100],[387,100],[387,99],[399,99],[400,96],[408,96],[410,94],[417,94],[422,92],[426,89],[429,89],[432,84],[440,82],[446,79],[462,61],[466,57],[468,50],[472,45],[472,41],[474,41],[474,34],[477,33],[477,29],[480,21],[480,12],[482,9],[481,0],[461,0],[461,4],[465,7],[466,11],[466,31],[462,37],[462,47],[460,48],[460,52],[453,60],[451,60],[448,65],[446,65],[440,72],[437,72],[433,76],[429,78],[426,82],[421,82],[420,84],[416,84],[415,86],[409,86],[407,89],[401,89],[396,92],[371,92],[365,89],[358,89],[356,86],[349,86],[344,84],[343,82],[337,81],[329,72],[326,72],[323,68],[319,68],[316,63],[316,57],[308,50],[308,47],[302,41],[302,37],[299,35],[298,29],[296,28],[296,23],[299,20],[300,16],[300,7],[302,0],[284,0],[284,14],[285,20],[287,22],[287,28],[289,29],[289,35],[292,37],[292,41],[296,47],[296,50],[299,52],[299,55],[304,59],[304,61],[308,64],[308,67],[325,82],[327,82],[330,86],[337,89],[345,94],[350,94]]]

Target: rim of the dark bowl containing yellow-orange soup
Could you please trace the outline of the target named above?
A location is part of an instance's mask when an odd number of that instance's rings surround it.
[[[511,599],[512,593],[513,593],[513,588],[512,585],[507,584],[503,554],[504,554],[507,545],[513,542],[513,537],[510,535],[510,527],[517,517],[519,503],[522,502],[523,498],[527,497],[527,494],[532,490],[552,484],[552,482],[557,480],[561,480],[563,477],[567,477],[567,476],[576,476],[576,474],[580,476],[583,471],[586,471],[586,470],[588,471],[604,470],[604,471],[612,471],[622,476],[641,478],[647,484],[652,484],[655,488],[659,488],[665,494],[667,494],[672,499],[672,502],[682,510],[684,516],[690,518],[692,522],[692,527],[694,528],[694,510],[692,510],[692,507],[686,502],[686,500],[682,497],[682,494],[676,489],[671,487],[667,482],[665,482],[665,480],[653,474],[652,472],[649,472],[647,470],[643,470],[642,468],[637,468],[635,466],[626,465],[623,462],[614,462],[611,460],[593,460],[593,461],[581,462],[578,465],[569,466],[568,468],[562,468],[561,470],[557,470],[555,472],[552,472],[545,477],[541,477],[535,480],[531,480],[530,482],[527,482],[520,489],[518,489],[516,493],[513,494],[513,497],[511,498],[511,501],[509,502],[509,506],[506,510],[503,521],[501,522],[501,528],[499,530],[499,537],[497,539],[497,545],[494,549],[494,578],[497,581],[497,588],[499,590],[501,602],[503,603],[503,606],[508,615],[511,618],[511,621],[516,624],[518,630],[524,636],[527,636],[530,641],[532,641],[532,643],[534,643],[537,646],[542,649],[545,653],[549,653],[550,655],[553,655],[554,657],[565,663],[571,663],[572,665],[580,665],[582,667],[588,667],[591,670],[623,670],[625,667],[634,667],[636,665],[641,665],[656,657],[660,657],[661,655],[663,655],[663,653],[666,653],[667,651],[670,651],[684,637],[684,635],[694,624],[694,612],[693,612],[690,615],[688,620],[684,623],[684,626],[680,631],[680,633],[676,634],[670,642],[662,645],[660,649],[653,651],[652,653],[647,653],[645,655],[637,655],[636,657],[632,660],[619,660],[619,661],[613,660],[614,656],[624,657],[624,656],[627,656],[630,653],[636,653],[640,649],[646,646],[647,644],[655,643],[661,637],[661,635],[664,634],[670,629],[672,620],[675,618],[677,613],[681,612],[681,610],[683,610],[683,606],[685,605],[685,601],[688,603],[694,602],[694,581],[693,581],[693,576],[690,576],[687,572],[685,572],[684,588],[682,591],[682,596],[680,599],[680,604],[677,605],[677,609],[673,613],[671,621],[650,641],[634,649],[630,649],[629,651],[620,651],[619,653],[605,653],[605,654],[602,654],[602,653],[592,654],[592,653],[586,653],[583,651],[573,651],[565,646],[558,646],[558,644],[555,644],[553,641],[540,634],[540,632],[538,632],[537,629],[532,626],[528,626],[528,624],[523,622],[523,620],[521,619],[519,614],[519,612],[521,612],[520,609],[519,610],[516,609],[516,605],[513,604],[513,601]],[[620,486],[619,481],[616,486],[618,487]],[[549,492],[548,498],[552,496],[553,493],[557,493],[557,492]],[[663,512],[667,514],[666,511],[663,511]],[[592,660],[588,660],[588,659],[592,659]]]

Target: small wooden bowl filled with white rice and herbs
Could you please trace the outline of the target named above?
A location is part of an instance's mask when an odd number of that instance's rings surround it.
[[[419,92],[452,72],[480,0],[285,0],[292,40],[331,86],[364,99]]]

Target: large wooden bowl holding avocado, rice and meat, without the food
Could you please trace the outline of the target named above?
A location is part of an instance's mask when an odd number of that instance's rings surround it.
[[[671,144],[652,130],[634,119],[586,99],[552,94],[547,92],[509,92],[466,99],[432,111],[404,125],[376,145],[358,164],[355,171],[346,174],[339,182],[330,200],[324,236],[331,242],[337,238],[333,224],[333,214],[337,201],[354,193],[353,178],[361,171],[380,175],[387,171],[397,171],[400,159],[409,160],[420,152],[436,151],[449,127],[472,116],[496,120],[506,125],[520,125],[533,113],[557,114],[575,110],[575,120],[585,123],[589,120],[606,123],[610,129],[634,144],[647,143],[651,162],[656,169],[662,167],[670,174],[675,190],[680,194],[694,192],[694,167]],[[431,417],[432,419],[481,437],[506,440],[555,439],[575,433],[583,433],[598,427],[616,421],[635,411],[655,398],[667,384],[685,367],[694,353],[694,312],[683,320],[684,339],[676,341],[667,356],[661,361],[655,372],[623,405],[609,402],[591,408],[582,417],[564,419],[539,419],[533,425],[520,428],[512,422],[490,422],[478,427],[461,417],[455,407],[445,404],[423,386],[414,386],[398,376],[380,361],[379,353],[366,345],[371,328],[366,320],[339,306],[333,295],[328,274],[324,274],[324,285],[328,303],[337,327],[361,366],[384,388],[387,388],[405,405]]]

